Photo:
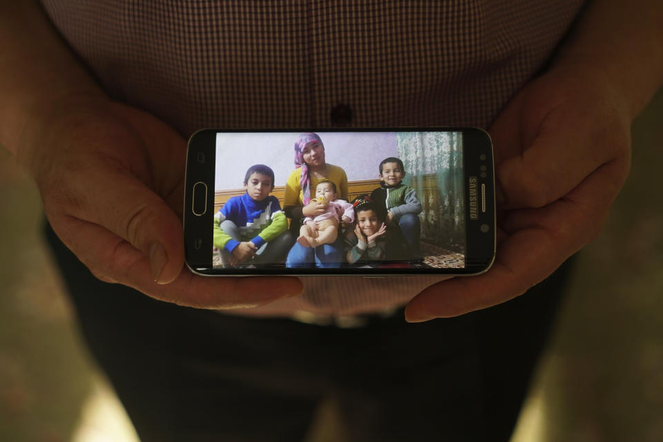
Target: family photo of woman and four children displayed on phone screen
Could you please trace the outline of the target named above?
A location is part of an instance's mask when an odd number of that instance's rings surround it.
[[[217,133],[213,267],[465,267],[460,132]]]

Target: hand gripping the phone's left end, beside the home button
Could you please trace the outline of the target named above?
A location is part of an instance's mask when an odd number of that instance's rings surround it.
[[[97,278],[204,308],[300,293],[296,278],[203,278],[184,267],[186,142],[171,127],[105,98],[52,108],[35,116],[19,161],[53,229]]]

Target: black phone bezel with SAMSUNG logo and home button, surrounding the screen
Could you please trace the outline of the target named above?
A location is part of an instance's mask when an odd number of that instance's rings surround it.
[[[463,135],[463,171],[465,185],[465,268],[356,268],[340,267],[338,269],[285,269],[282,267],[260,269],[247,268],[213,268],[212,244],[213,231],[212,213],[206,211],[202,215],[193,213],[193,186],[196,183],[206,184],[206,207],[214,207],[215,151],[217,133],[281,133],[281,132],[461,132]],[[470,152],[470,146],[472,152]],[[201,156],[202,155],[202,156]],[[480,160],[485,155],[485,160]],[[485,171],[481,170],[485,166]],[[481,176],[485,173],[485,177]],[[470,219],[470,177],[477,177],[477,184],[486,185],[486,211],[479,210],[477,220]],[[494,157],[490,135],[481,128],[468,127],[416,127],[416,128],[278,128],[278,129],[201,129],[191,135],[186,149],[186,170],[184,173],[184,255],[186,266],[193,273],[201,276],[259,276],[259,275],[292,275],[292,276],[385,276],[385,275],[477,275],[487,271],[495,256],[495,200],[494,200]],[[480,190],[479,190],[480,194]],[[479,206],[481,200],[479,200]],[[488,231],[481,231],[481,225],[488,224]],[[193,234],[193,232],[196,232]],[[205,247],[203,247],[205,246]]]

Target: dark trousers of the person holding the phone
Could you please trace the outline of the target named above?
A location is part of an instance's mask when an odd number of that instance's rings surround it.
[[[46,236],[142,441],[297,441],[329,397],[356,441],[508,441],[568,273],[459,318],[339,329],[153,300]]]

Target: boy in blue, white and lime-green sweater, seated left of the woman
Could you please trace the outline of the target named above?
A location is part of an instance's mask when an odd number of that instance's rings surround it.
[[[226,202],[214,215],[214,247],[224,267],[281,263],[294,243],[288,220],[274,189],[274,171],[265,164],[249,167],[242,196]]]

